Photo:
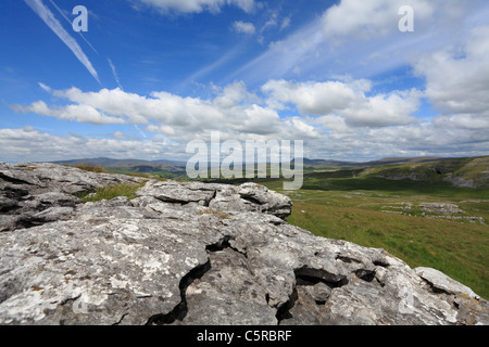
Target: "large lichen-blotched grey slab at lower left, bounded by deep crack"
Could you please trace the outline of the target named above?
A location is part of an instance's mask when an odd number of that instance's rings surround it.
[[[49,226],[49,227],[48,227]],[[1,239],[1,324],[143,324],[180,300],[204,244],[151,219],[86,219]]]

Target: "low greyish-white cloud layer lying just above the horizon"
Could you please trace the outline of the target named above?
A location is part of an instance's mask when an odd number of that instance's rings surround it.
[[[260,121],[264,111],[259,107],[252,107],[249,111],[255,112],[256,115],[256,118],[250,118],[250,120]],[[272,113],[269,117],[274,118]],[[400,155],[473,156],[487,153],[489,131],[485,128],[467,128],[471,121],[468,118],[463,119],[459,116],[450,118],[449,121],[436,117],[432,123],[384,128],[351,128],[337,116],[314,119],[290,117],[281,127],[281,137],[276,139],[304,140],[305,156],[313,158],[367,160]],[[321,130],[319,124],[328,128],[327,133]],[[464,127],[460,127],[461,125]],[[487,123],[480,126],[487,127]],[[54,136],[33,127],[0,129],[0,147],[3,150],[0,153],[0,160],[57,160],[97,156],[185,159],[188,158],[185,153],[187,141],[202,139],[209,144],[209,131],[205,129],[200,129],[187,138],[181,138],[181,133],[178,133],[176,128],[168,128],[168,130],[176,130],[174,139],[180,137],[178,142],[168,142],[164,140],[165,137],[158,134],[151,140],[141,141],[121,132],[113,133],[112,138],[115,139],[100,139],[75,134]],[[156,132],[163,133],[161,129]],[[241,133],[230,130],[221,132],[221,141],[227,139],[241,142],[268,141],[272,138],[271,134]]]

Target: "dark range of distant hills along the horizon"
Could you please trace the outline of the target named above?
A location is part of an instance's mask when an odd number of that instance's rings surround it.
[[[141,174],[165,178],[186,178],[186,163],[177,160],[112,159],[105,157],[54,162],[70,166],[101,166],[117,174]],[[293,163],[293,160],[292,160]],[[331,159],[303,159],[304,172],[354,170],[359,176],[375,176],[387,180],[426,181],[466,188],[489,188],[489,156],[467,158],[388,157],[365,163]],[[353,172],[353,171],[352,171]]]

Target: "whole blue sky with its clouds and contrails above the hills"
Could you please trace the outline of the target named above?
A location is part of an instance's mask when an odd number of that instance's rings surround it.
[[[4,162],[187,159],[212,131],[311,158],[489,154],[485,0],[3,0],[0,39]]]

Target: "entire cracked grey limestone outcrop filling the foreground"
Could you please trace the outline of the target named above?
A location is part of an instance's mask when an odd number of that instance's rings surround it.
[[[1,220],[43,218],[0,233],[0,324],[489,323],[437,270],[288,224],[264,187],[150,180],[82,204],[70,192],[133,178],[75,170],[0,165]]]

